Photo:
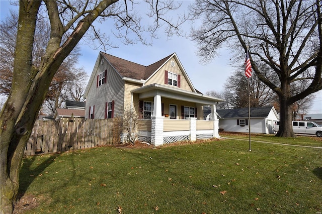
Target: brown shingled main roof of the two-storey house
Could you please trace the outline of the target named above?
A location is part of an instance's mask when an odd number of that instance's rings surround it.
[[[101,52],[102,55],[111,63],[111,65],[120,73],[123,77],[129,77],[133,79],[146,80],[151,74],[156,71],[161,65],[163,65],[173,54],[151,64],[148,66],[140,65],[134,62],[130,62],[125,59],[121,59],[116,56],[112,56],[107,53]]]

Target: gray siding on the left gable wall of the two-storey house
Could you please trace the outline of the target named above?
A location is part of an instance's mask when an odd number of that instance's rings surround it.
[[[101,57],[101,55],[99,55]],[[105,117],[105,103],[114,100],[114,117],[121,116],[124,101],[124,80],[113,69],[113,67],[105,60],[102,65],[101,59],[95,72],[93,82],[89,88],[86,97],[85,118],[89,117],[90,106],[95,106],[94,118],[104,119]],[[107,70],[106,83],[97,87],[97,75]]]

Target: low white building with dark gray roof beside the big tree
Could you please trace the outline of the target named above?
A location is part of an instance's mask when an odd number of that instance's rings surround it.
[[[249,132],[248,108],[217,109],[219,129],[227,132]],[[274,106],[251,108],[251,133],[274,134],[279,116]]]

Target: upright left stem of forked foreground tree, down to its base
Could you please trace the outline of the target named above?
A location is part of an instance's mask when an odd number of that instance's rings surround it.
[[[0,186],[1,213],[11,213],[17,199],[19,171],[26,143],[39,111],[25,112],[25,103],[36,70],[32,50],[36,18],[41,2],[20,3],[19,27],[11,92],[1,113]],[[29,75],[26,75],[29,74]],[[41,103],[40,103],[41,104]]]

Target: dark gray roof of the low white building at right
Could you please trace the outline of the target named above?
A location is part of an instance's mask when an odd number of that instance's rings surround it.
[[[251,118],[267,117],[272,110],[273,106],[264,106],[251,108]],[[247,118],[248,108],[241,109],[217,109],[217,114],[221,118]]]

